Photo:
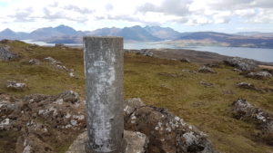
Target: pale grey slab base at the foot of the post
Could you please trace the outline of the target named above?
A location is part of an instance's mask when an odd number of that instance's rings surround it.
[[[135,131],[124,130],[126,140],[125,153],[145,153],[147,150],[148,139],[145,134]],[[85,145],[87,141],[87,131],[81,133],[66,153],[86,153]]]

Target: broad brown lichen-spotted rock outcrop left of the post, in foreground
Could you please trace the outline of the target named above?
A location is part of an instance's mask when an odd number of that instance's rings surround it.
[[[56,152],[86,128],[85,102],[74,91],[24,99],[0,94],[0,130],[18,132],[12,152]]]

